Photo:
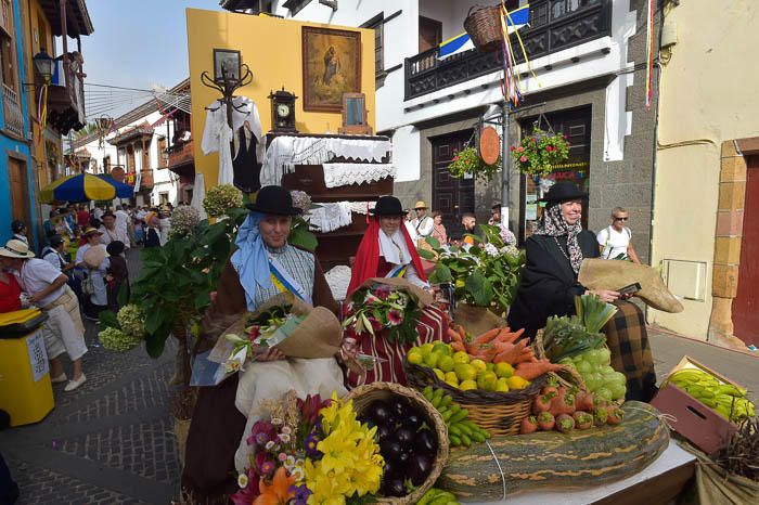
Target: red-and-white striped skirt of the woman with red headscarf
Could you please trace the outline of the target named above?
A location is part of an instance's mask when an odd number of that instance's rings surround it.
[[[413,344],[391,342],[385,338],[387,329],[377,332],[374,337],[366,336],[358,342],[359,352],[373,355],[380,359],[380,363],[374,368],[365,373],[357,373],[348,368],[347,384],[349,388],[355,388],[371,383],[398,383],[406,386],[406,371],[403,370],[403,358],[409,349],[414,346],[433,341],[448,341],[447,329],[449,327],[448,316],[436,307],[426,307],[422,310],[416,333],[419,338]]]

